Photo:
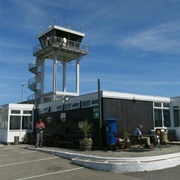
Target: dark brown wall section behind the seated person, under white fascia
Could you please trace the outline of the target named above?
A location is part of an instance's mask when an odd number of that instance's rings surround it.
[[[117,134],[134,132],[138,124],[144,126],[143,133],[153,129],[153,102],[121,99],[103,99],[103,120],[117,119]]]

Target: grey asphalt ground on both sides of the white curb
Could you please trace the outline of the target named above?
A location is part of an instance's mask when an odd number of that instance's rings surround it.
[[[151,151],[135,152],[132,150],[106,151],[92,150],[80,151],[77,149],[64,149],[43,147],[35,148],[32,145],[0,145],[0,179],[1,180],[25,180],[25,179],[125,179],[125,180],[176,180],[179,179],[180,166],[162,169],[158,171],[114,173],[97,171],[83,166],[72,164],[70,160],[58,157],[51,151],[64,152],[69,154],[84,154],[87,156],[101,156],[110,158],[123,157],[154,157],[178,153],[179,145],[156,148]],[[47,153],[44,153],[44,152]]]

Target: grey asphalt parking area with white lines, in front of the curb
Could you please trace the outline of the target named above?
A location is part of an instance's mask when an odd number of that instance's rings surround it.
[[[53,154],[25,149],[21,145],[0,145],[0,180],[176,180],[179,179],[179,170],[180,166],[140,173],[96,171],[71,164],[71,161]]]

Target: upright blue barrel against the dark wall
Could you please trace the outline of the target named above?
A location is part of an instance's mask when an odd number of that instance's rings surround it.
[[[116,119],[106,119],[106,140],[108,145],[116,144]]]

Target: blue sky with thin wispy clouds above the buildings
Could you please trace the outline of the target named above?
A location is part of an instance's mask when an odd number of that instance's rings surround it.
[[[54,24],[85,33],[89,54],[80,61],[80,94],[97,91],[100,79],[102,90],[180,96],[180,0],[0,0],[0,105],[33,94],[28,89],[33,47],[40,29]],[[70,92],[74,71],[72,62]],[[47,92],[51,74],[47,60]]]

